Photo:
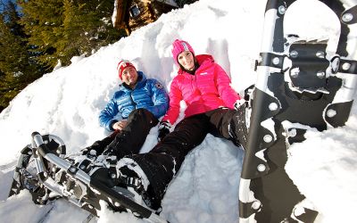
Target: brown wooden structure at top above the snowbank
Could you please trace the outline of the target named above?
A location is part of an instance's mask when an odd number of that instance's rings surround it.
[[[173,0],[115,0],[112,23],[116,29],[125,29],[129,36],[133,30],[176,8]]]

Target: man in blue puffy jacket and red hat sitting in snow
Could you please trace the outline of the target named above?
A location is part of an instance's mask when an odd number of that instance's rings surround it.
[[[146,78],[129,61],[120,61],[117,70],[122,84],[99,115],[101,126],[114,132],[84,149],[83,154],[115,154],[119,160],[139,153],[150,129],[168,110],[169,96],[159,81]],[[118,114],[119,120],[115,119]]]

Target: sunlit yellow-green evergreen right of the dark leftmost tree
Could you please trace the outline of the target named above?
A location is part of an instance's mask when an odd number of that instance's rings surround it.
[[[52,68],[59,60],[69,65],[71,57],[93,54],[120,39],[111,23],[113,0],[22,0],[21,7],[38,60]]]

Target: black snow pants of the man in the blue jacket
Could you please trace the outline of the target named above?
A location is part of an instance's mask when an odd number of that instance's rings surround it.
[[[122,130],[116,130],[111,136],[107,136],[95,143],[87,150],[95,150],[96,154],[111,153],[120,160],[122,157],[140,152],[145,143],[150,129],[157,125],[159,120],[154,114],[145,109],[131,111],[128,117],[128,125]]]

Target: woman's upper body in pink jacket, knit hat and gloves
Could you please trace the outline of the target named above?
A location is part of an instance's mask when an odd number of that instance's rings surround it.
[[[187,104],[185,118],[207,111],[210,116],[216,113],[229,113],[240,99],[230,87],[227,73],[215,63],[212,55],[196,55],[186,41],[175,40],[172,54],[179,65],[178,75],[170,86],[170,107],[160,125],[159,139],[169,133],[179,117],[180,101]],[[218,118],[218,117],[217,117]]]

